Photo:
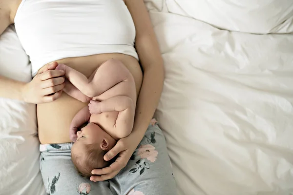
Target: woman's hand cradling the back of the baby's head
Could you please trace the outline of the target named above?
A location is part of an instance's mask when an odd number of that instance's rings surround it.
[[[91,176],[91,181],[105,181],[116,176],[121,169],[126,167],[130,157],[138,146],[140,140],[137,140],[135,135],[130,134],[128,137],[119,139],[114,148],[112,148],[107,154],[105,154],[104,159],[106,161],[111,160],[113,157],[119,154],[115,162],[110,166],[103,169],[94,169]]]

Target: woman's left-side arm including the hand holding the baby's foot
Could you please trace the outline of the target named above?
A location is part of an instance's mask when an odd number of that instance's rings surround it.
[[[21,0],[0,0],[0,35],[12,23]],[[48,64],[31,82],[24,83],[0,76],[0,97],[18,99],[29,103],[54,101],[64,87],[64,71],[54,70],[56,62]],[[9,66],[9,64],[7,64]]]

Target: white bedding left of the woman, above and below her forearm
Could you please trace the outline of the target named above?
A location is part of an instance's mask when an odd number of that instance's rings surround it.
[[[29,59],[14,26],[0,36],[0,75],[23,82],[31,80]],[[34,104],[0,98],[1,195],[45,195],[36,119]]]

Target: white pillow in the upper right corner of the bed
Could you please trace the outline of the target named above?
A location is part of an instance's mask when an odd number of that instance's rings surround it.
[[[166,0],[170,13],[220,29],[256,34],[292,33],[292,0]]]

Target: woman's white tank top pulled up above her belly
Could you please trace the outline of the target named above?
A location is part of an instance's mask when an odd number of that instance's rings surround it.
[[[15,27],[33,75],[46,63],[70,57],[122,53],[138,59],[123,0],[22,0]]]

